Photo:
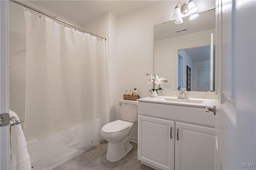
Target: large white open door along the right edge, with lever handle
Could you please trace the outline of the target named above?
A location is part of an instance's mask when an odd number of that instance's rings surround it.
[[[216,1],[215,169],[255,169],[256,1]]]

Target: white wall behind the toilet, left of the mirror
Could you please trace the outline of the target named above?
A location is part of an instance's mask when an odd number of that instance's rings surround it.
[[[198,12],[214,8],[215,2],[212,2],[209,8],[200,6],[201,11]],[[172,20],[176,4],[177,1],[158,1],[118,18],[118,99],[123,98],[126,89],[133,88],[137,88],[142,98],[150,96],[148,90],[152,85],[147,83],[146,73],[154,74],[154,25]],[[121,119],[119,112],[117,118]],[[134,129],[137,130],[137,125]],[[137,140],[137,134],[133,139]]]

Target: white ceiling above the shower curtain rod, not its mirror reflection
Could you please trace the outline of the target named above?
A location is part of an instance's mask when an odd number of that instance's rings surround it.
[[[143,8],[157,0],[29,0],[47,10],[83,25],[107,12],[116,17]]]

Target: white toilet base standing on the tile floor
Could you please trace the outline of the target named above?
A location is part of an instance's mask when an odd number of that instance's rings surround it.
[[[130,144],[130,141],[120,143],[108,142],[106,159],[110,162],[117,162],[124,158],[130,150],[132,150],[132,144]]]

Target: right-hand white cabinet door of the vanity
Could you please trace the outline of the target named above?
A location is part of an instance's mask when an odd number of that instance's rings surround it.
[[[175,170],[214,169],[214,128],[175,123]]]

